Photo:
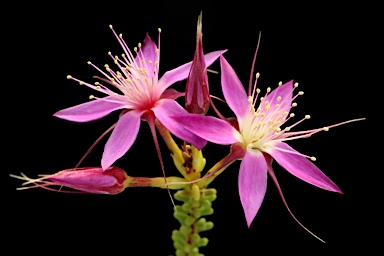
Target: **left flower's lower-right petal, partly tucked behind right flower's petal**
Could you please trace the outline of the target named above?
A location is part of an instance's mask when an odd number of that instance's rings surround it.
[[[199,150],[202,149],[207,141],[196,136],[191,131],[185,129],[180,123],[172,119],[171,116],[177,114],[187,114],[188,112],[183,109],[176,101],[170,99],[161,99],[157,102],[156,106],[152,108],[156,118],[160,121],[165,128],[167,128],[176,137],[191,143]]]

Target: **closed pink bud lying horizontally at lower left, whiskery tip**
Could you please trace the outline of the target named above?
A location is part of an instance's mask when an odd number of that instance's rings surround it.
[[[101,167],[74,168],[63,170],[52,175],[42,175],[38,179],[30,179],[24,174],[22,176],[11,175],[11,177],[25,180],[23,185],[34,184],[28,188],[44,188],[47,190],[76,193],[76,191],[60,190],[51,186],[67,187],[92,194],[115,195],[124,191],[129,185],[130,179],[124,170],[117,167],[110,167],[103,171]]]

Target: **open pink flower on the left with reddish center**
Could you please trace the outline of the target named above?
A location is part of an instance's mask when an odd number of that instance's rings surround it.
[[[112,26],[110,28],[124,51],[121,58],[109,53],[120,71],[115,72],[108,65],[105,65],[107,72],[104,72],[88,62],[105,76],[105,78],[99,78],[101,82],[92,85],[68,76],[69,79],[106,96],[95,97],[91,95],[92,101],[60,110],[54,116],[75,122],[88,122],[102,118],[112,111],[124,109],[118,122],[112,127],[114,130],[104,148],[101,160],[101,166],[104,170],[130,149],[139,132],[141,119],[147,121],[151,127],[158,154],[160,152],[157,145],[155,119],[175,136],[192,143],[197,148],[202,148],[206,143],[205,140],[184,129],[169,117],[170,115],[187,113],[174,100],[182,96],[183,93],[178,93],[173,89],[168,89],[168,87],[187,78],[191,62],[167,71],[159,79],[160,47],[156,46],[149,35],[146,35],[143,45],[139,44],[138,48],[134,48],[136,53],[134,56],[122,39],[122,35],[117,35]],[[160,36],[158,46],[160,46]],[[216,51],[205,55],[207,65],[211,65],[224,52]],[[112,85],[114,90],[107,88],[106,84]]]

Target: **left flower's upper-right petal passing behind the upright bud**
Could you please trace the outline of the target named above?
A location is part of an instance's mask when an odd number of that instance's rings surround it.
[[[205,54],[204,57],[206,66],[209,67],[221,54],[225,53],[226,51],[227,50],[222,50]],[[164,75],[160,78],[158,86],[164,87],[165,90],[177,81],[186,79],[189,75],[191,65],[192,61],[165,72]]]

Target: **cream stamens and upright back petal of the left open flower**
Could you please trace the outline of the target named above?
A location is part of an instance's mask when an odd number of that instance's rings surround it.
[[[91,95],[90,99],[124,102],[127,105],[127,109],[149,110],[154,106],[156,101],[159,100],[162,94],[162,91],[157,86],[160,49],[157,48],[155,43],[147,36],[145,40],[148,40],[148,42],[144,45],[145,49],[143,49],[141,43],[139,43],[133,50],[136,53],[136,57],[134,57],[132,51],[123,40],[122,34],[117,35],[111,25],[110,29],[116,36],[124,52],[121,54],[121,57],[117,55],[113,56],[111,52],[108,52],[108,55],[111,56],[114,64],[119,68],[119,71],[115,72],[106,64],[104,65],[106,69],[105,72],[88,61],[89,65],[104,76],[95,76],[101,80],[100,82],[92,85],[71,76],[67,78],[78,81],[80,84],[91,87],[108,96],[113,96],[110,98],[96,98]],[[158,31],[159,33],[161,32],[160,29]],[[114,89],[109,89],[103,83],[112,85]],[[116,90],[119,91],[119,93],[116,93]]]

